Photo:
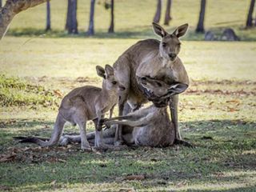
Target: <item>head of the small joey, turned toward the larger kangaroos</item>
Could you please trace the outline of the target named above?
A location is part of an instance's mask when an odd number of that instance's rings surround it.
[[[114,78],[114,69],[110,65],[106,65],[105,69],[102,66],[96,66],[98,76],[103,78],[102,89],[118,90],[118,82]]]

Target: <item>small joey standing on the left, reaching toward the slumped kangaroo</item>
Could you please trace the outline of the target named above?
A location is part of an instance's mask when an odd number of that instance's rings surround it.
[[[80,128],[82,150],[91,150],[90,143],[86,138],[86,122],[93,120],[95,125],[94,146],[106,147],[102,141],[102,126],[99,122],[104,118],[107,111],[110,110],[110,116],[112,115],[114,106],[118,102],[118,82],[114,78],[112,66],[106,65],[105,70],[101,66],[96,66],[96,70],[98,76],[103,78],[102,89],[95,86],[82,86],[67,94],[59,107],[50,141],[26,138],[22,142],[34,142],[40,146],[54,146],[61,138],[64,124],[71,122],[74,125],[78,124]]]

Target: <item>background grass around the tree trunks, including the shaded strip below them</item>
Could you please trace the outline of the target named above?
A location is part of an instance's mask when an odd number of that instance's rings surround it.
[[[150,23],[153,20],[157,1],[136,1],[118,0],[115,2],[115,31],[116,34],[107,34],[110,24],[110,10],[105,10],[104,1],[98,1],[95,6],[95,31],[96,38],[149,38],[154,34],[151,31]],[[165,13],[165,3],[162,8],[163,23]],[[46,25],[46,4],[36,6],[18,14],[10,25],[7,35],[14,36],[39,36],[48,37],[68,37],[64,32],[66,21],[67,1],[53,0],[51,3],[51,23],[53,32],[45,33]],[[207,1],[206,6],[206,30],[213,30],[216,34],[221,34],[222,30],[232,27],[242,40],[256,40],[255,31],[245,30],[246,15],[250,1],[239,0],[214,0]],[[190,32],[186,39],[202,40],[202,34],[194,34],[198,22],[200,0],[180,0],[173,2],[171,15],[173,20],[167,30],[171,31],[175,26],[188,22]],[[80,34],[76,37],[84,38],[89,23],[90,1],[78,1],[78,30]],[[139,18],[139,19],[138,19]]]

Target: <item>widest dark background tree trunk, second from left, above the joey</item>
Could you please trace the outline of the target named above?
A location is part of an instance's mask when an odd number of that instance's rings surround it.
[[[77,0],[68,0],[65,29],[69,34],[78,34]]]

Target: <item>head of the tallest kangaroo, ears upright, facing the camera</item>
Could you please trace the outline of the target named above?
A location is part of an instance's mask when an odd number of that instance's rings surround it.
[[[159,46],[159,52],[162,58],[166,58],[170,61],[174,61],[177,58],[181,49],[181,42],[179,38],[186,34],[188,26],[189,25],[187,23],[182,26],[178,26],[172,34],[169,34],[162,28],[162,26],[153,22],[154,33],[158,34],[162,38]]]

